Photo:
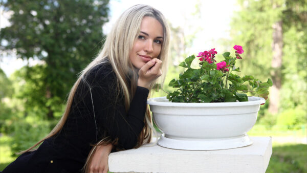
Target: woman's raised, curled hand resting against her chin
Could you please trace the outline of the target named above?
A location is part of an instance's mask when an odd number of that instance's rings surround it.
[[[153,58],[148,61],[139,70],[138,86],[149,89],[150,82],[162,75],[161,72],[162,61],[158,58]]]

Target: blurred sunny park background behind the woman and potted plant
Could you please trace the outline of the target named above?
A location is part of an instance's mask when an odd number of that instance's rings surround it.
[[[135,4],[157,8],[171,26],[165,91],[187,56],[215,48],[218,59],[243,46],[241,74],[274,83],[248,133],[272,136],[267,172],[307,172],[306,0],[0,0],[0,170],[51,131],[77,74]]]

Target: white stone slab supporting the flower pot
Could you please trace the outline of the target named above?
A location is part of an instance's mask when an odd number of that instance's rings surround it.
[[[246,147],[191,151],[158,145],[111,153],[111,172],[265,172],[272,155],[271,137],[250,137]]]

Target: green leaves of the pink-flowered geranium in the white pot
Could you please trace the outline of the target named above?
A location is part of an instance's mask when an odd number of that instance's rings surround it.
[[[236,53],[237,54],[237,53]],[[230,56],[229,52],[223,54],[225,66],[217,70],[217,64],[213,61],[215,54],[212,55],[212,63],[200,61],[199,69],[191,68],[191,63],[195,56],[189,56],[179,66],[186,68],[179,79],[172,79],[169,87],[177,89],[167,95],[172,102],[235,102],[248,101],[245,93],[254,92],[260,97],[267,99],[269,87],[272,80],[261,82],[252,76],[240,76],[232,72],[239,72],[239,68],[234,66],[237,58]],[[230,67],[230,70],[225,69]],[[237,70],[238,69],[238,70]],[[251,90],[248,90],[248,87]],[[240,93],[239,93],[240,92]]]

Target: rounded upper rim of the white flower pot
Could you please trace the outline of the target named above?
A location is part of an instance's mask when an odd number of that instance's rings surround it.
[[[160,101],[164,100],[164,101]],[[166,96],[154,97],[147,100],[149,105],[157,106],[177,106],[177,107],[217,107],[217,106],[245,106],[245,105],[259,105],[264,104],[266,100],[261,97],[248,97],[249,101],[243,102],[219,102],[219,103],[179,103],[179,102],[166,102]]]

